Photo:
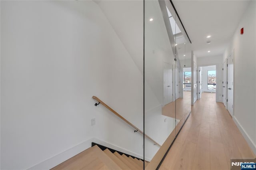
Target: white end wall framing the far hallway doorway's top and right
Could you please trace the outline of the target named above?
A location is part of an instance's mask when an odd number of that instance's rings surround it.
[[[216,65],[216,102],[222,102],[222,55],[211,57],[198,57],[198,67]]]

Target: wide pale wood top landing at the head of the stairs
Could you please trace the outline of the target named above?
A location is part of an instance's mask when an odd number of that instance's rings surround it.
[[[72,158],[55,166],[51,170],[63,169],[109,169],[120,170],[120,168],[110,157],[108,157],[97,145],[84,150]]]

